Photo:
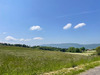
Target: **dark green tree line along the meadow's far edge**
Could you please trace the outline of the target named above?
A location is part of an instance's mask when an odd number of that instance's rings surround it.
[[[28,46],[25,44],[9,44],[9,43],[0,43],[0,45],[4,46],[16,46],[16,47],[25,47],[25,48],[37,48],[40,50],[49,50],[49,51],[61,51],[61,52],[73,52],[73,53],[82,53],[86,51],[85,47],[81,48],[75,48],[75,47],[69,47],[69,48],[57,48],[57,47],[47,47],[47,46]]]

